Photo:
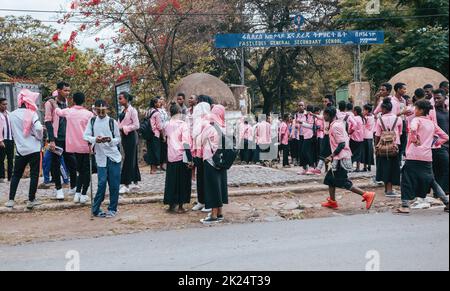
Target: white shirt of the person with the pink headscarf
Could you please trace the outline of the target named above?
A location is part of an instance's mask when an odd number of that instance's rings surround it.
[[[23,134],[23,119],[26,109],[19,108],[9,115],[12,134],[16,144],[16,152],[20,156],[39,153],[41,151],[41,140],[44,136],[44,128],[39,121],[39,115],[34,113],[33,124],[30,135],[25,137]]]

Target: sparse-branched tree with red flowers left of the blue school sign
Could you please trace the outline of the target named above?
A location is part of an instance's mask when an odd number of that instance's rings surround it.
[[[95,40],[114,61],[116,81],[156,76],[169,97],[171,84],[211,53],[215,27],[223,17],[207,14],[229,6],[225,0],[76,0],[60,22],[82,24],[64,47],[73,47],[79,33],[114,32],[109,39]]]

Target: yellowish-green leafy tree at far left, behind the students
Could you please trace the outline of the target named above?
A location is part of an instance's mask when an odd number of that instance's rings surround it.
[[[109,99],[116,71],[93,50],[65,48],[57,32],[31,17],[0,18],[0,76],[4,81],[32,82],[55,89],[67,81],[89,103]]]

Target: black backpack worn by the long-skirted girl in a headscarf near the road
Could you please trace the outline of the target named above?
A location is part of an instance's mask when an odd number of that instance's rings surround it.
[[[222,130],[217,124],[213,124],[216,131],[222,137],[222,145],[216,151],[212,160],[214,165],[219,170],[229,170],[236,160],[239,150],[236,149],[236,139],[234,136],[227,136],[222,133]]]

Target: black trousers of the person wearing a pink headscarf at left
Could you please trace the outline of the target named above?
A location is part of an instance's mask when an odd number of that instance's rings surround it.
[[[41,164],[41,153],[33,153],[26,156],[16,156],[14,164],[14,173],[11,179],[11,186],[9,189],[9,200],[16,198],[17,187],[19,187],[20,179],[27,165],[30,165],[30,191],[28,192],[28,200],[34,201],[36,199],[37,185],[39,182],[39,167]]]

